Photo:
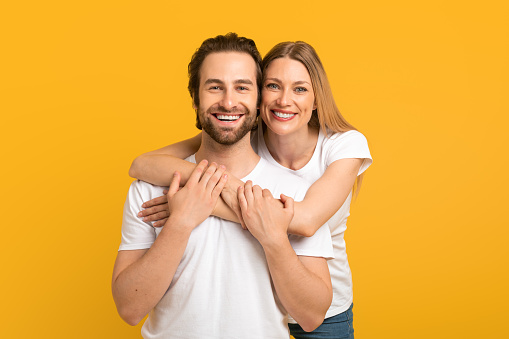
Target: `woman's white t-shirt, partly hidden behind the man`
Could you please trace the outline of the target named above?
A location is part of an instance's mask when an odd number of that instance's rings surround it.
[[[335,133],[327,138],[322,131],[320,131],[311,160],[301,169],[294,171],[280,165],[272,157],[265,144],[262,130],[262,126],[259,125],[258,129],[251,134],[251,145],[255,152],[270,164],[285,170],[287,173],[298,175],[309,184],[313,184],[318,180],[327,167],[336,160],[347,158],[364,159],[358,175],[364,172],[373,162],[371,154],[369,153],[366,137],[360,132],[352,130],[344,133]],[[334,189],[334,187],[331,187],[331,189]],[[350,215],[351,201],[352,193],[348,195],[348,198],[341,208],[327,222],[332,236],[332,245],[334,247],[334,259],[327,262],[331,274],[334,295],[332,304],[325,318],[330,318],[346,311],[353,301],[352,274],[350,272],[350,266],[348,265],[344,239],[346,220]],[[295,323],[291,318],[290,322]]]

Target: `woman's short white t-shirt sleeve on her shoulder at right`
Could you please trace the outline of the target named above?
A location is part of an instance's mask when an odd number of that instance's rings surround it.
[[[358,131],[333,134],[325,138],[325,164],[330,166],[334,161],[348,158],[364,159],[357,175],[361,175],[373,162],[366,137]]]

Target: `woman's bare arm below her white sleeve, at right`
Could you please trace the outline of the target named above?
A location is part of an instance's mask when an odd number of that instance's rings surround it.
[[[295,203],[295,214],[288,228],[291,234],[310,237],[343,205],[353,188],[364,159],[334,161],[315,181],[304,200]]]

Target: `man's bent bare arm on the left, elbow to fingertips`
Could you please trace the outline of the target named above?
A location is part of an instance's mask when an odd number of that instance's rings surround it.
[[[128,324],[136,325],[154,308],[170,286],[191,231],[212,212],[227,177],[225,168],[200,162],[186,186],[173,176],[168,205],[173,212],[148,250],[120,251],[112,278],[113,299]],[[202,175],[203,173],[203,175]]]

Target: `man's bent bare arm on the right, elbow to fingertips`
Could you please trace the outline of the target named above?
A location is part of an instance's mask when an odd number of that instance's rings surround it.
[[[332,301],[332,284],[324,258],[297,256],[288,239],[293,199],[281,203],[268,190],[248,181],[238,199],[247,228],[265,252],[274,287],[288,313],[305,331],[317,328]]]

